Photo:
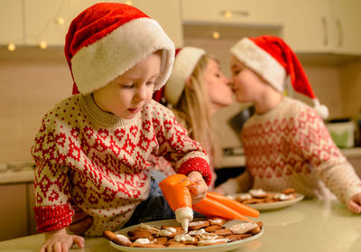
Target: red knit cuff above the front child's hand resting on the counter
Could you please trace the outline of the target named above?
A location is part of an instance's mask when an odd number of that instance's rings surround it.
[[[69,203],[56,206],[34,207],[38,232],[60,230],[71,224],[74,210]]]

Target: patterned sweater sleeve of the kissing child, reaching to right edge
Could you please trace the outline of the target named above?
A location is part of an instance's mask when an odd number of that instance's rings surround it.
[[[361,181],[346,157],[334,144],[322,119],[312,108],[307,108],[295,118],[296,135],[293,150],[311,164],[320,181],[332,191],[339,201],[361,192]]]

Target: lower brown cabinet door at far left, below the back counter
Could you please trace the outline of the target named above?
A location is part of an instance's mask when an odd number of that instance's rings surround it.
[[[0,240],[28,235],[26,184],[0,185]]]

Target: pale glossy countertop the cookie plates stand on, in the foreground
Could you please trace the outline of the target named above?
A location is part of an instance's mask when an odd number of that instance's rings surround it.
[[[338,201],[303,200],[280,210],[262,211],[264,235],[239,252],[359,252],[361,214],[347,210]],[[42,235],[0,242],[0,251],[38,252]],[[86,238],[84,249],[72,252],[118,251],[105,238]],[[166,251],[166,250],[164,250]]]

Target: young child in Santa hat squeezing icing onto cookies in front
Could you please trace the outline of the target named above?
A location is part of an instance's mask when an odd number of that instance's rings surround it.
[[[174,61],[161,26],[130,5],[92,5],[70,23],[65,55],[79,94],[51,108],[32,146],[41,251],[83,247],[83,238],[65,230],[70,199],[93,218],[88,236],[120,229],[131,217],[142,221],[153,191],[162,205],[147,220],[174,217],[151,182],[151,154],[188,175],[193,201],[203,199],[211,182],[207,154],[152,99]]]

